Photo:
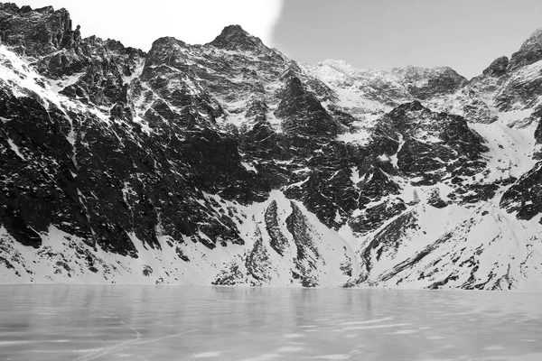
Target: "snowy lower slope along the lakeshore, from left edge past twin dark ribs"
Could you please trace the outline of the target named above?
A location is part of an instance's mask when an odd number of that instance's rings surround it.
[[[323,227],[299,202],[280,191],[248,207],[206,195],[217,211],[235,208],[244,245],[213,251],[188,237],[159,236],[160,249],[129,234],[137,257],[107,252],[51,226],[36,251],[0,228],[4,271],[0,282],[113,282],[337,286],[360,275],[352,237]]]

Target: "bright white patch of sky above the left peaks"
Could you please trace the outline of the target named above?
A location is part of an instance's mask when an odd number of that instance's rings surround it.
[[[12,0],[34,9],[52,5],[70,11],[73,27],[81,35],[112,38],[126,46],[148,51],[163,36],[202,44],[222,29],[239,24],[273,45],[273,30],[284,0]]]

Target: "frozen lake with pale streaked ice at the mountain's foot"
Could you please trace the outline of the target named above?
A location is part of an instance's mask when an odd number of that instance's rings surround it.
[[[0,286],[0,360],[542,360],[542,295]]]

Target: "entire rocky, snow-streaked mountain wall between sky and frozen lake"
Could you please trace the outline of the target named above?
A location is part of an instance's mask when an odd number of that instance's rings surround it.
[[[2,282],[542,287],[539,32],[472,80],[0,34]]]

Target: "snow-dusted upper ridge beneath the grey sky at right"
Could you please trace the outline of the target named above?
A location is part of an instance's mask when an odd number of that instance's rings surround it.
[[[494,60],[471,80],[453,69],[406,66],[385,70],[355,69],[342,60],[304,64],[304,70],[332,88],[333,106],[370,126],[374,115],[418,100],[435,111],[464,116],[476,123],[499,121],[510,127],[537,125],[540,100],[540,45],[538,29],[511,58]],[[360,125],[360,126],[361,126]]]

